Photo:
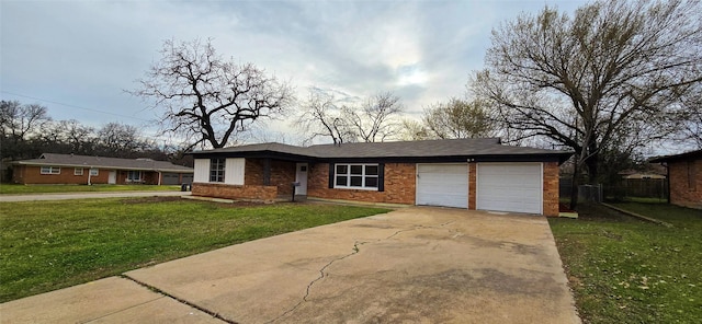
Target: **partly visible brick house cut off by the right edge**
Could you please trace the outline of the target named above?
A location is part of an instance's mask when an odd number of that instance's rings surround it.
[[[668,202],[702,209],[702,150],[660,157],[649,162],[668,166]]]

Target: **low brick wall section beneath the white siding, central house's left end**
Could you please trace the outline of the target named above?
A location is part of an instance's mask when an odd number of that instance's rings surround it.
[[[193,183],[193,196],[226,198],[226,199],[253,199],[271,202],[278,197],[276,186],[260,185],[225,185],[210,183]]]

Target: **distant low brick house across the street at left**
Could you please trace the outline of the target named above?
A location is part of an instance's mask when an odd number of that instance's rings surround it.
[[[193,169],[151,159],[117,159],[44,153],[12,162],[18,184],[149,184],[192,183]]]

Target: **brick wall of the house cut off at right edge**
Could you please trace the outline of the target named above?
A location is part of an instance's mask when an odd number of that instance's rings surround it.
[[[702,159],[694,160],[694,186],[690,187],[688,161],[668,163],[670,173],[670,202],[690,208],[702,209]]]

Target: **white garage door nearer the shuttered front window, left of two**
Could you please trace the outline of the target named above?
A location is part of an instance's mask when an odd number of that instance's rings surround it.
[[[417,164],[417,205],[468,208],[468,164]]]

